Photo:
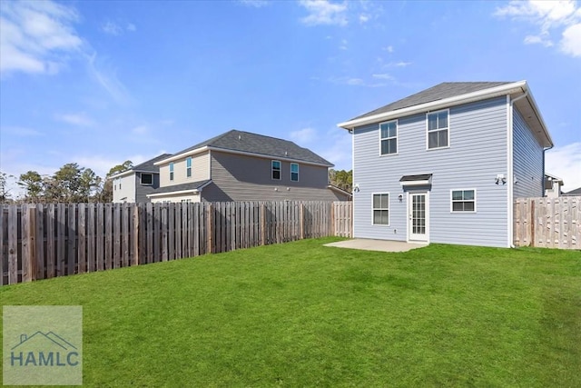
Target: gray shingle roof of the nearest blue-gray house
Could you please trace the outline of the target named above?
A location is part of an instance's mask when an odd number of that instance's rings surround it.
[[[495,86],[512,84],[511,82],[444,82],[442,84],[432,86],[429,89],[422,90],[415,95],[409,95],[402,98],[395,103],[381,106],[366,114],[361,114],[351,120],[356,120],[363,117],[368,117],[374,114],[384,114],[398,109],[408,108],[409,106],[431,103],[432,101],[443,100],[457,95],[466,95],[478,90],[484,90]]]

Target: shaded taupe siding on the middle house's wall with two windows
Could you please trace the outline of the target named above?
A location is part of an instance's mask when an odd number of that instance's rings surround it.
[[[271,179],[271,159],[211,153],[212,184],[203,201],[343,200],[327,187],[327,167],[300,164],[299,182],[291,181],[291,163],[281,162],[281,180]]]

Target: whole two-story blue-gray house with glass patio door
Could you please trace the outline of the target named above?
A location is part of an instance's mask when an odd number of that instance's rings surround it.
[[[354,237],[509,247],[553,146],[526,81],[444,83],[339,124],[353,134]]]

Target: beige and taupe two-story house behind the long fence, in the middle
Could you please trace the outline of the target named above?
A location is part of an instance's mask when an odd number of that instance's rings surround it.
[[[163,158],[155,202],[338,201],[328,161],[287,140],[231,130]]]

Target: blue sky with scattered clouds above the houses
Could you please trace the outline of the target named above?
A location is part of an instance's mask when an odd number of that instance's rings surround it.
[[[577,2],[0,3],[0,171],[103,176],[232,128],[350,169],[336,124],[449,81],[526,79],[581,186]]]

